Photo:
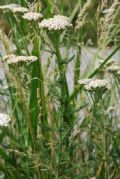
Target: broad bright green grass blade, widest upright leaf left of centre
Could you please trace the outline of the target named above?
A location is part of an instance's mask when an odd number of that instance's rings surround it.
[[[47,109],[46,109],[46,100],[45,100],[45,91],[44,91],[44,79],[43,79],[41,61],[39,59],[40,58],[40,40],[39,40],[38,34],[35,31],[34,31],[33,43],[34,43],[33,55],[37,56],[38,60],[34,62],[32,66],[30,114],[31,114],[31,120],[34,126],[34,132],[35,132],[35,137],[36,137],[39,114],[41,114],[40,116],[41,123],[44,126],[45,124],[47,124]],[[40,100],[40,106],[39,106],[38,100]]]

